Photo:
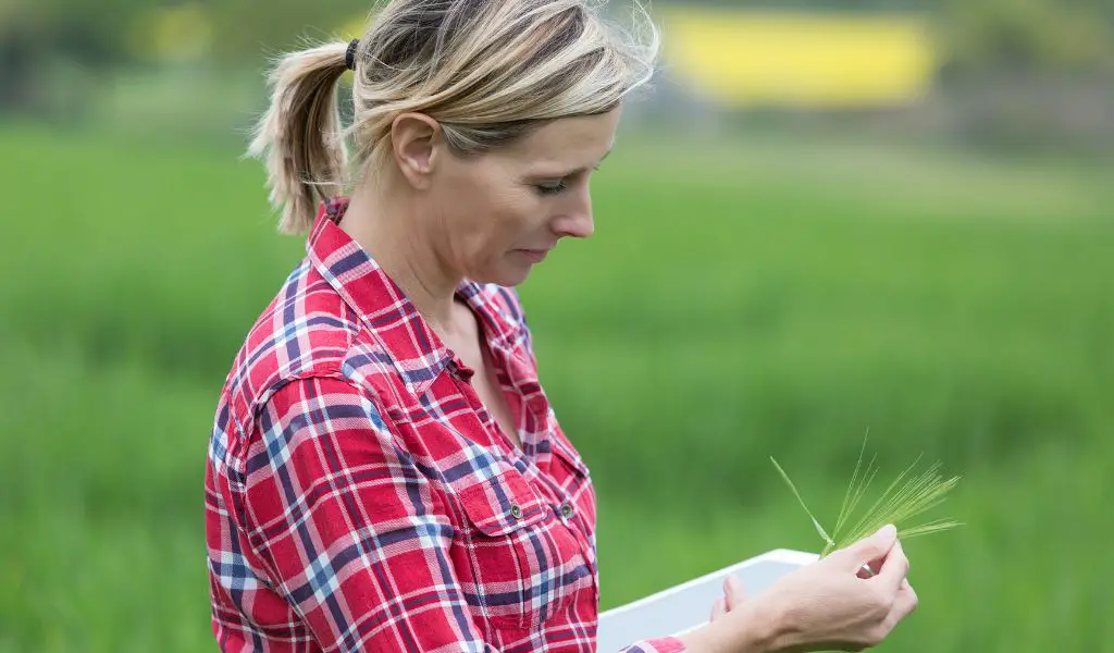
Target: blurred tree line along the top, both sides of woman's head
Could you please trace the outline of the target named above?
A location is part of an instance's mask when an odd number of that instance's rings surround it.
[[[939,95],[974,137],[1081,125],[1084,140],[1096,125],[1114,133],[1110,0],[670,1],[918,12],[939,46]],[[0,111],[78,115],[102,76],[121,67],[255,72],[305,39],[354,33],[370,9],[370,0],[0,0]]]

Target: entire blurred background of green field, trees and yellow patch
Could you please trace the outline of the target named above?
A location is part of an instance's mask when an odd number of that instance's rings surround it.
[[[628,9],[613,3],[619,18]],[[0,651],[213,651],[203,471],[303,252],[241,158],[358,0],[0,0]],[[603,607],[962,477],[882,651],[1114,651],[1114,3],[658,0],[597,232],[520,289]],[[1104,399],[1105,398],[1105,399]]]

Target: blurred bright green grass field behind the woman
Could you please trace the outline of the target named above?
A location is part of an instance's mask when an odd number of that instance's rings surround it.
[[[218,147],[0,130],[0,651],[212,651],[202,474],[241,339],[302,252]],[[819,549],[883,472],[964,476],[880,650],[1114,651],[1114,168],[622,143],[597,235],[521,293],[593,468],[604,607]]]

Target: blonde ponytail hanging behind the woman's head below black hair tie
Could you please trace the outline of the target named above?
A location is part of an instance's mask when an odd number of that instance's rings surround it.
[[[336,106],[348,70],[349,43],[330,43],[283,57],[268,77],[271,106],[255,127],[247,155],[267,172],[278,231],[296,234],[313,223],[319,201],[340,192],[348,150]]]

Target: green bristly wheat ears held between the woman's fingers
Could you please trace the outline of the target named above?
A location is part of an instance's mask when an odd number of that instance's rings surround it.
[[[869,436],[869,431],[868,431]],[[908,539],[910,537],[918,537],[921,535],[928,535],[931,533],[940,533],[942,530],[949,530],[956,526],[960,526],[960,523],[952,519],[934,519],[931,522],[926,522],[924,524],[918,524],[915,526],[905,526],[907,522],[913,517],[930,510],[944,501],[945,496],[951,491],[951,489],[959,483],[959,477],[955,476],[951,478],[945,478],[940,475],[940,464],[936,462],[929,466],[928,469],[921,471],[920,474],[912,475],[913,467],[920,461],[920,456],[917,460],[907,467],[892,483],[886,488],[878,499],[874,500],[873,505],[866,510],[866,513],[853,526],[848,527],[849,518],[854,513],[859,503],[867,494],[867,489],[873,481],[874,477],[878,475],[878,467],[874,465],[877,456],[871,457],[870,462],[867,467],[862,467],[863,454],[867,449],[867,437],[862,439],[862,448],[859,450],[859,460],[854,465],[854,471],[851,474],[851,481],[848,484],[847,491],[843,494],[843,503],[840,505],[839,517],[836,519],[836,527],[832,529],[831,535],[824,530],[824,527],[820,524],[820,520],[815,518],[812,510],[809,509],[804,499],[801,497],[800,490],[790,480],[789,475],[782,469],[781,465],[773,458],[770,460],[773,462],[774,468],[778,469],[778,474],[785,481],[793,495],[797,497],[798,503],[804,508],[804,511],[812,519],[812,525],[815,527],[817,533],[824,540],[824,548],[820,556],[827,556],[831,552],[843,548],[850,544],[867,537],[868,535],[874,533],[882,526],[887,524],[893,524],[898,528],[898,537],[902,539]],[[908,477],[908,478],[907,478]],[[902,483],[902,479],[905,481]]]

